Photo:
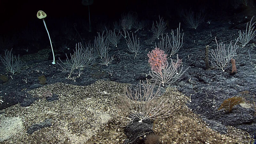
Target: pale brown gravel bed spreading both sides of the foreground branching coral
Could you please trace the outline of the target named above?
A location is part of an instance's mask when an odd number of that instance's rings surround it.
[[[50,91],[59,95],[59,100],[46,102],[36,100],[29,107],[19,105],[6,108],[0,118],[7,116],[22,118],[24,129],[3,143],[124,143],[126,136],[118,118],[125,114],[116,105],[122,103],[123,89],[127,84],[97,81],[88,86],[50,84],[30,91],[33,96],[44,98],[42,93]],[[155,122],[153,131],[160,143],[250,143],[252,137],[242,130],[227,127],[228,134],[220,134],[187,106],[188,97],[177,89],[167,88],[164,97],[172,97],[172,116]],[[119,97],[119,98],[117,98]],[[115,116],[116,115],[116,116]],[[114,116],[114,118],[112,117]],[[27,129],[35,123],[52,119],[52,126],[28,134]]]

